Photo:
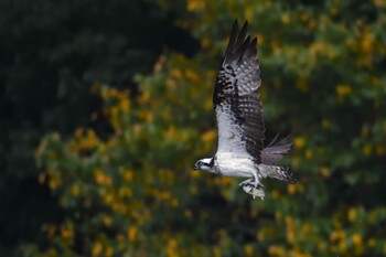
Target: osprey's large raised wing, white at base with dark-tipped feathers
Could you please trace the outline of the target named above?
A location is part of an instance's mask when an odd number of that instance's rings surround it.
[[[265,125],[258,88],[261,84],[257,39],[250,40],[247,22],[242,30],[235,21],[217,74],[213,104],[218,127],[218,149],[261,162]]]

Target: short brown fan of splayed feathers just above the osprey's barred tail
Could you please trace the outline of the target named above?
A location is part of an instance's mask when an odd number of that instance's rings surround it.
[[[278,141],[279,133],[272,139],[272,141],[261,151],[261,162],[267,165],[276,165],[282,159],[285,153],[291,150],[292,142],[286,143],[288,137]]]

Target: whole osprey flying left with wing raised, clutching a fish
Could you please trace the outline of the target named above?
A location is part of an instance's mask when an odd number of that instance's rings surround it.
[[[264,200],[261,179],[274,178],[294,183],[288,168],[278,162],[292,143],[277,141],[275,137],[264,147],[265,124],[258,88],[260,68],[257,60],[257,38],[246,36],[248,23],[242,30],[235,21],[228,46],[219,67],[213,94],[213,105],[218,127],[217,152],[194,164],[203,170],[225,176],[248,178],[239,185],[243,190]]]

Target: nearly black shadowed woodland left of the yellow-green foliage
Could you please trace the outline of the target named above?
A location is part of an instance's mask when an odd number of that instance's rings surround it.
[[[0,1],[2,247],[34,239],[43,221],[63,215],[37,184],[41,137],[79,126],[110,131],[94,85],[135,93],[135,74],[150,73],[163,51],[194,53],[197,43],[175,26],[176,15],[140,0]]]

